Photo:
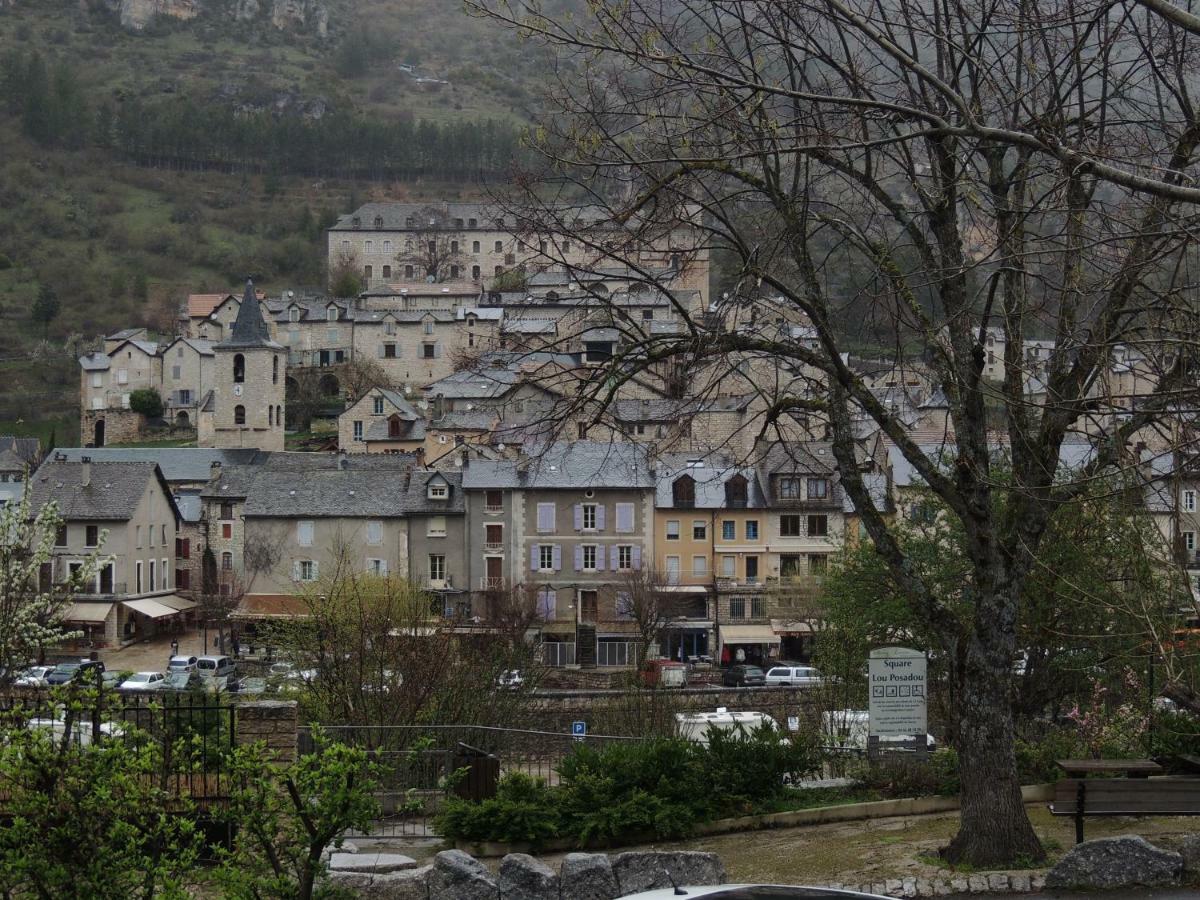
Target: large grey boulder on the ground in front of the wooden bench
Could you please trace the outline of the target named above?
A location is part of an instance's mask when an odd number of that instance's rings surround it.
[[[1048,888],[1106,890],[1174,884],[1183,857],[1127,834],[1075,845],[1046,875]]]

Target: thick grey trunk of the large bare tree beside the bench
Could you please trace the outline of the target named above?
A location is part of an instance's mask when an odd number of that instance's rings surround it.
[[[952,863],[979,868],[1045,858],[1016,774],[1012,707],[1016,604],[1006,593],[980,598],[976,606],[959,694],[959,833],[942,851]]]

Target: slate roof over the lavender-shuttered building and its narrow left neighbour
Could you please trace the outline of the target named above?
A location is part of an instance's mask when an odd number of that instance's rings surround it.
[[[523,460],[473,460],[462,473],[470,488],[605,488],[655,486],[646,448],[594,440],[551,444]]]

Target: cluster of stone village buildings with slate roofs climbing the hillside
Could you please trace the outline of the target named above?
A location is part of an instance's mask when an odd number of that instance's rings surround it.
[[[821,418],[768,410],[784,392],[820,396],[821,378],[748,356],[683,378],[642,368],[604,407],[576,401],[647,335],[702,322],[803,344],[812,330],[769,296],[751,323],[722,319],[685,223],[637,271],[607,264],[610,238],[584,227],[574,246],[534,239],[479,204],[372,203],[328,233],[330,271],[360,276],[356,296],[247,282],[188,296],[174,335],[106,336],[79,359],[80,446],[56,449],[29,485],[35,508],[56,500],[67,523],[48,577],[109,532],[109,562],[67,614],[79,646],[194,620],[212,575],[252,640],[348,570],[410,578],[439,616],[481,634],[523,598],[528,636],[556,667],[808,660],[822,578],[863,532]],[[1001,383],[1015,358],[1036,390],[1052,342],[1014,356],[1000,329],[983,334],[984,377]],[[953,448],[920,360],[847,362],[930,458]],[[1114,360],[1099,426],[1136,407],[1152,365],[1132,349]],[[148,433],[132,401],[148,391],[161,398],[156,433],[194,446],[122,446]],[[301,406],[329,426],[314,452],[284,449]],[[860,426],[876,509],[919,518],[920,476],[889,436]],[[1087,462],[1088,437],[1064,444],[1066,467]],[[1200,478],[1171,438],[1140,434],[1127,458],[1194,577]],[[997,433],[995,451],[1004,445]],[[643,648],[649,594],[664,622]]]

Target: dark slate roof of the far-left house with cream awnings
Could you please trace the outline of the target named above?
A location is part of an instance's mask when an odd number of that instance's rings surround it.
[[[50,500],[67,521],[125,522],[133,517],[146,484],[157,479],[178,514],[170,487],[152,462],[92,462],[91,480],[83,484],[83,463],[47,460],[29,481],[34,512]]]

